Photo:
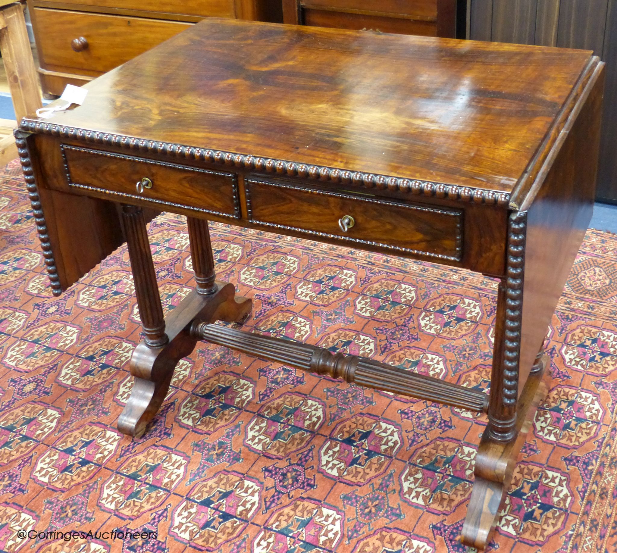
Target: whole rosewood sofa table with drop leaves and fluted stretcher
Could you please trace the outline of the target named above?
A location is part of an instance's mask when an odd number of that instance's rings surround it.
[[[547,391],[547,328],[594,199],[603,64],[591,52],[207,19],[16,131],[54,294],[126,239],[143,341],[118,428],[139,436],[197,340],[486,412],[462,541],[482,549]],[[186,215],[195,289],[164,318],[146,234]],[[500,279],[491,391],[213,324],[208,221]]]

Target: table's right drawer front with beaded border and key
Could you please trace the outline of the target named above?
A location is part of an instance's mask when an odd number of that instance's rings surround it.
[[[298,188],[283,182],[245,180],[249,220],[316,239],[341,240],[349,246],[380,248],[395,254],[460,261],[463,213],[372,197]],[[347,231],[353,219],[353,226]]]

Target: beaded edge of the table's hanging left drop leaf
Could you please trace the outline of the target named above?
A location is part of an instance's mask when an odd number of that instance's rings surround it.
[[[45,259],[49,281],[51,282],[52,293],[54,296],[59,296],[62,293],[62,286],[60,285],[60,277],[58,276],[56,268],[54,252],[52,251],[51,243],[49,242],[47,223],[45,222],[41,199],[39,198],[38,188],[36,188],[34,171],[30,160],[30,151],[28,151],[28,143],[26,138],[28,138],[29,133],[15,129],[13,134],[15,136],[15,144],[17,146],[17,155],[19,156],[19,161],[22,164],[23,178],[26,181],[26,188],[28,189],[28,197],[30,197],[30,206],[32,208],[32,213],[35,216],[36,230],[39,241],[41,241],[41,249],[43,249],[43,257]]]

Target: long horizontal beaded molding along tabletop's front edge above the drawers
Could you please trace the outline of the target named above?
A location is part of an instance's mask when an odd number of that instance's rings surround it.
[[[510,194],[491,190],[481,190],[468,186],[445,185],[442,183],[413,180],[409,178],[388,177],[373,173],[352,172],[333,167],[319,167],[318,165],[297,164],[282,159],[270,159],[251,155],[234,154],[182,144],[157,142],[130,136],[114,135],[88,131],[81,128],[65,127],[53,123],[41,123],[23,119],[19,129],[27,133],[42,133],[45,135],[72,138],[86,143],[117,146],[133,151],[164,154],[167,156],[194,159],[212,164],[235,166],[249,171],[262,173],[277,173],[284,177],[310,178],[312,180],[329,181],[331,183],[351,184],[365,188],[388,189],[393,192],[411,193],[414,195],[435,196],[453,201],[473,202],[474,204],[497,205],[507,207]]]

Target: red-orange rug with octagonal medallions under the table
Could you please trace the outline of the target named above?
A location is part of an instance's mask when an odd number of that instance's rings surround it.
[[[468,412],[201,344],[146,436],[118,433],[140,333],[126,248],[52,298],[16,164],[0,183],[2,551],[465,550],[486,423]],[[162,215],[149,232],[170,310],[192,286],[186,225]],[[494,280],[212,235],[219,278],[254,299],[249,328],[487,388]],[[550,329],[552,388],[489,551],[617,551],[616,249],[587,233]]]

